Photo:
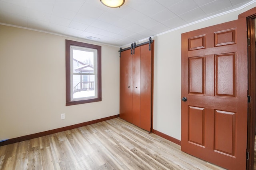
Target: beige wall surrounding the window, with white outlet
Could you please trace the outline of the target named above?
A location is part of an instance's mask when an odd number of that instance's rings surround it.
[[[65,39],[0,25],[0,140],[119,114],[119,48],[102,44],[102,102],[65,106]]]

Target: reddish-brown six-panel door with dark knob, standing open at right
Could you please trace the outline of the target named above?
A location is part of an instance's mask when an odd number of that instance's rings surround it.
[[[182,34],[182,151],[246,169],[247,76],[246,19]]]

